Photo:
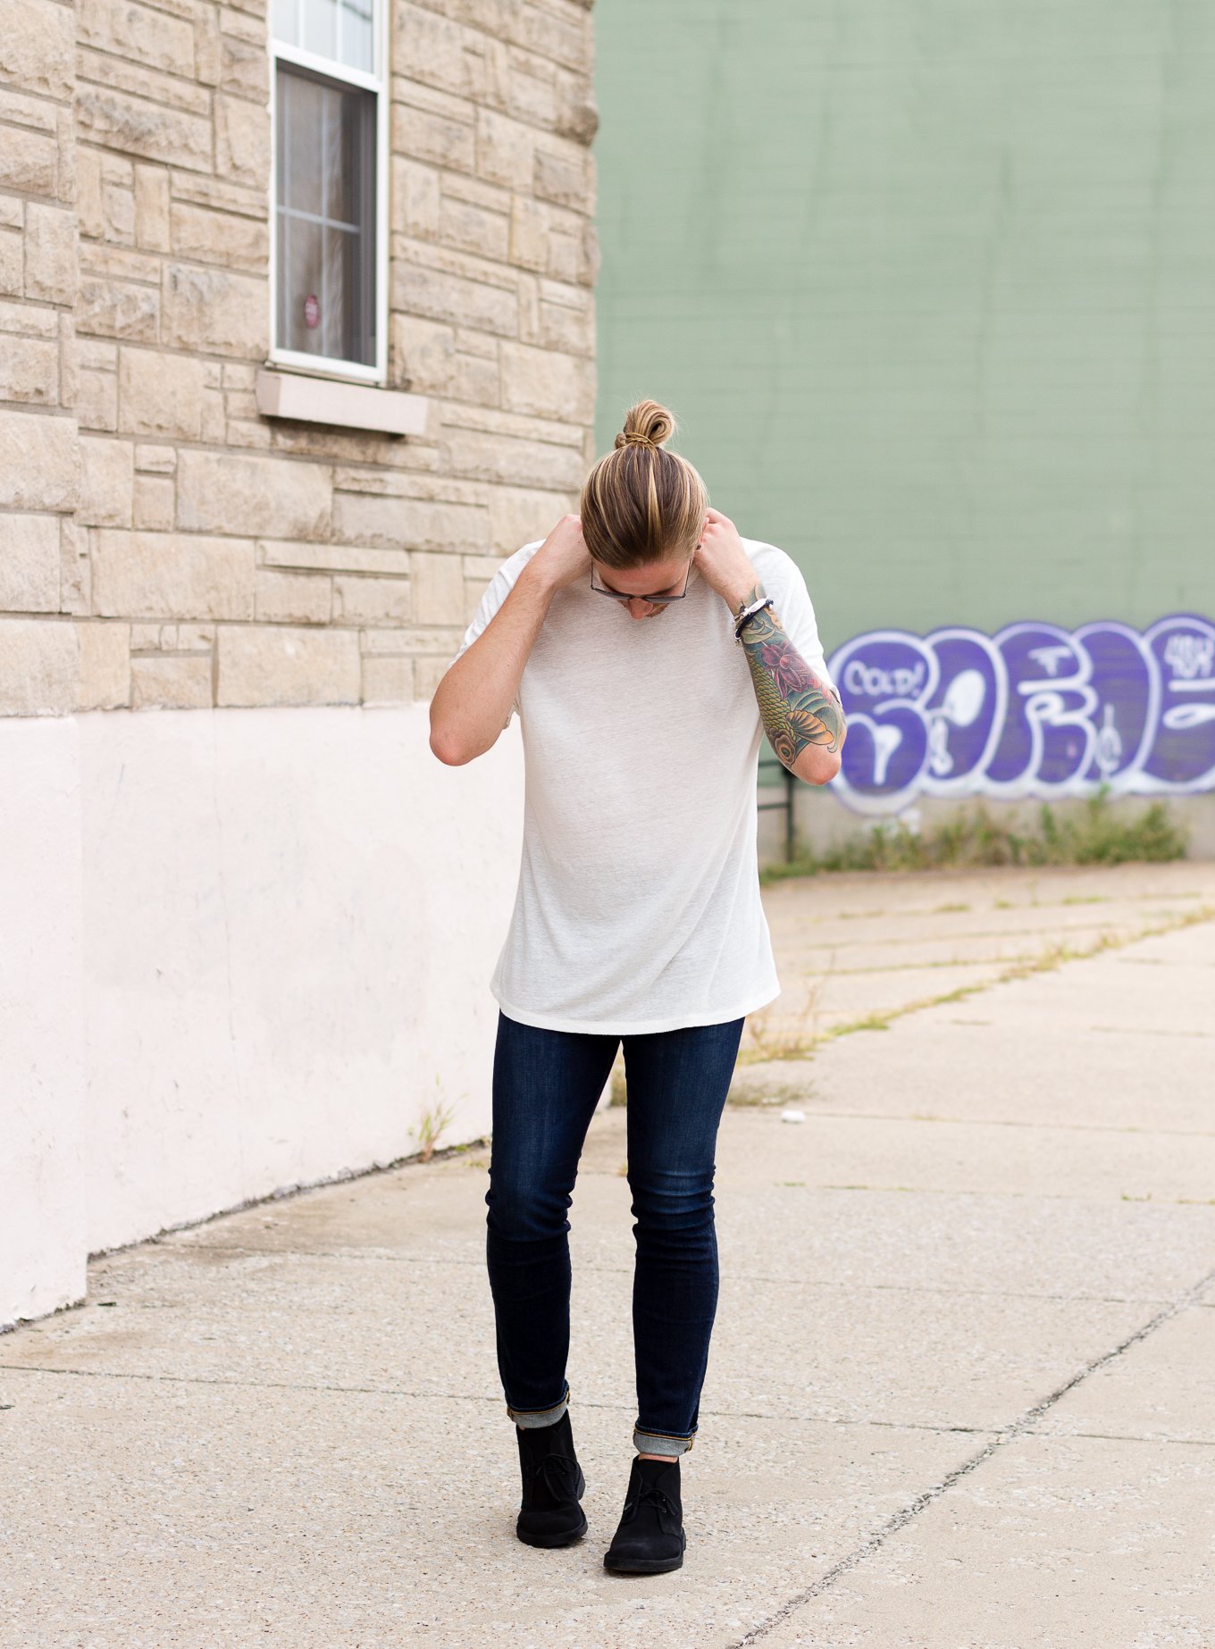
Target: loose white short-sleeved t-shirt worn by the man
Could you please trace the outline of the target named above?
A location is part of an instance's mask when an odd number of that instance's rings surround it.
[[[501,564],[460,653],[541,543]],[[742,543],[790,640],[831,686],[800,567],[775,544]],[[755,848],[763,722],[722,597],[696,569],[686,599],[650,618],[589,577],[557,590],[514,711],[524,828],[490,981],[501,1011],[625,1036],[739,1019],[778,996]]]

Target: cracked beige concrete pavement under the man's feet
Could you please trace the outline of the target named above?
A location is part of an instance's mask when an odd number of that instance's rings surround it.
[[[0,1644],[1212,1649],[1215,866],[767,904],[683,1570],[602,1568],[612,1108],[574,1205],[580,1545],[513,1534],[473,1149],[97,1260],[0,1337]]]

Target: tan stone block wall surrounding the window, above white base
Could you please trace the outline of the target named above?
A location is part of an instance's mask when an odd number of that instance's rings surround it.
[[[429,698],[592,458],[589,0],[389,0],[389,378],[270,419],[264,0],[0,0],[0,714]]]

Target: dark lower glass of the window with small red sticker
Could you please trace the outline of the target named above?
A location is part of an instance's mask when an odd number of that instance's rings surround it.
[[[376,97],[279,64],[277,341],[376,359]]]

